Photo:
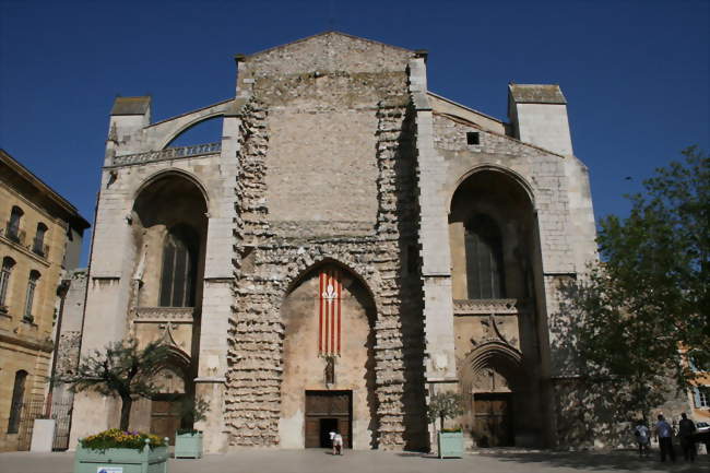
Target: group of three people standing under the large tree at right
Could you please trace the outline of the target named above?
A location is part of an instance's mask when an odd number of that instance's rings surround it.
[[[695,423],[690,421],[685,413],[681,414],[677,433],[674,431],[665,417],[659,414],[659,421],[655,423],[655,426],[653,426],[653,436],[659,439],[661,461],[665,461],[666,457],[668,457],[671,461],[675,461],[675,449],[673,448],[674,434],[677,434],[677,437],[681,440],[681,448],[683,449],[683,457],[685,460],[695,461],[695,440],[693,440],[693,434],[695,430]],[[634,436],[639,446],[639,457],[648,457],[651,452],[651,430],[646,426],[643,421],[639,421],[638,425],[634,427]]]

